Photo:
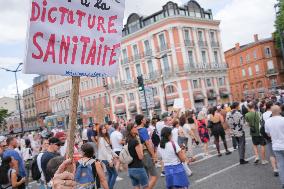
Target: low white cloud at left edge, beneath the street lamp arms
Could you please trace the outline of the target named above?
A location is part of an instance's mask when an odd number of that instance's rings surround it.
[[[29,88],[30,86],[25,83],[24,80],[19,79],[18,80],[18,87],[19,87],[19,93],[22,95],[23,90]],[[0,97],[15,97],[17,95],[17,88],[16,83],[12,83],[8,85],[7,87],[1,88],[0,90]]]

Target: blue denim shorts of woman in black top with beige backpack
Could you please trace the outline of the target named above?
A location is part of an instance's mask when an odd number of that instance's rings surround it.
[[[149,184],[149,179],[144,168],[128,168],[128,174],[131,179],[132,186],[141,186],[145,188]]]

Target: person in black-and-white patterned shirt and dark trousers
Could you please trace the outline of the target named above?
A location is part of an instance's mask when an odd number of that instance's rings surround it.
[[[226,116],[226,121],[229,126],[229,132],[232,137],[235,137],[239,156],[240,156],[240,164],[247,164],[248,161],[245,160],[245,151],[246,151],[246,137],[245,137],[245,118],[242,113],[239,111],[240,104],[238,102],[234,102],[231,105],[231,112],[228,112]]]

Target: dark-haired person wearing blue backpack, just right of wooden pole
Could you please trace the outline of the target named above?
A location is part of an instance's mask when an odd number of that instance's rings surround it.
[[[82,158],[77,163],[75,172],[75,181],[80,187],[108,189],[108,183],[105,178],[103,165],[100,161],[93,159],[94,148],[91,144],[81,146]]]

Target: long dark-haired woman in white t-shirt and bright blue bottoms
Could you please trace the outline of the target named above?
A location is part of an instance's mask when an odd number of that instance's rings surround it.
[[[182,162],[186,161],[185,152],[172,139],[172,129],[165,127],[161,132],[158,153],[163,159],[167,189],[188,189],[189,179]]]

